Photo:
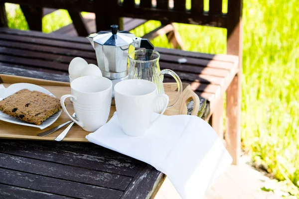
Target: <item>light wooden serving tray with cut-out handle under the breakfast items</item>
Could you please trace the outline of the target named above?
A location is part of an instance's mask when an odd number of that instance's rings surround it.
[[[5,88],[7,88],[9,85],[14,83],[30,83],[30,84],[39,85],[47,89],[48,91],[50,91],[57,98],[60,98],[65,94],[71,93],[69,83],[0,74],[0,84],[3,84]],[[177,93],[176,83],[165,83],[164,90],[165,93],[169,96],[169,100],[172,100]],[[187,114],[186,104],[191,99],[193,99],[194,101],[192,115],[197,115],[199,105],[200,105],[199,98],[191,90],[189,84],[183,84],[182,97],[174,106],[168,108],[164,114],[165,115]],[[69,99],[66,100],[66,107],[70,111],[70,113],[74,112],[73,104]],[[112,117],[115,111],[116,111],[115,105],[112,105],[109,114],[109,119]],[[56,138],[66,128],[66,126],[45,137],[39,137],[36,135],[38,133],[51,129],[69,120],[70,119],[68,118],[68,116],[62,111],[60,117],[51,126],[43,130],[29,127],[29,126],[22,126],[22,125],[11,124],[8,122],[0,121],[0,138],[54,141],[54,138]],[[87,139],[85,139],[85,136],[87,134],[89,134],[89,132],[84,131],[81,127],[75,124],[68,132],[66,137],[63,139],[63,141],[88,142]]]

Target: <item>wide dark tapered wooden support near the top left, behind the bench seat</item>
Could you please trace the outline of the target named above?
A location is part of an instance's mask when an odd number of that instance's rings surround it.
[[[30,30],[42,30],[42,7],[20,5]]]

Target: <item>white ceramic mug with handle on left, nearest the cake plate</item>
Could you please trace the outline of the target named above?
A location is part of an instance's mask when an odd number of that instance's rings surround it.
[[[112,82],[100,76],[84,76],[71,83],[72,95],[64,95],[60,103],[64,112],[84,130],[93,132],[104,125],[109,116],[112,95]],[[66,110],[64,101],[73,99],[73,106],[78,120]]]

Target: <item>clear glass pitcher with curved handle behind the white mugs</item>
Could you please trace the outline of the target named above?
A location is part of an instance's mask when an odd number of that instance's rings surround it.
[[[182,95],[182,83],[178,75],[169,69],[160,71],[160,54],[155,50],[136,50],[128,55],[130,69],[128,79],[143,79],[153,82],[157,86],[157,95],[165,94],[163,87],[164,74],[171,75],[177,83],[177,94],[169,101],[167,108],[173,106]],[[158,99],[154,111],[159,113],[163,109],[163,99]]]

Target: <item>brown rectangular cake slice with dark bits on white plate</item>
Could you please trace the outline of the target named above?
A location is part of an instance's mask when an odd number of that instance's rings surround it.
[[[40,125],[61,110],[60,100],[38,91],[20,90],[0,101],[2,112],[26,122]]]

